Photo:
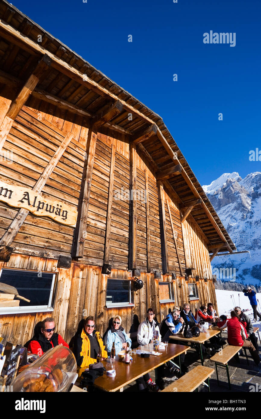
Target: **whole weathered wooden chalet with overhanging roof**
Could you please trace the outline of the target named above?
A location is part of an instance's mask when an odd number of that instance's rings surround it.
[[[0,157],[5,339],[216,305],[211,260],[235,245],[161,117],[4,0]]]

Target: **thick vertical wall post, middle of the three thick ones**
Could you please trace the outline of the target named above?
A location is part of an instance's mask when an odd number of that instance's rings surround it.
[[[136,145],[129,146],[129,269],[136,269],[137,265],[137,151]]]

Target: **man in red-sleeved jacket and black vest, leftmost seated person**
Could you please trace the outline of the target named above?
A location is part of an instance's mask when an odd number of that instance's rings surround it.
[[[30,341],[26,342],[25,347],[27,347],[28,351],[32,354],[37,354],[39,356],[58,345],[69,348],[69,345],[62,339],[62,336],[54,331],[54,318],[45,318],[42,322],[41,332],[39,335],[34,335]]]

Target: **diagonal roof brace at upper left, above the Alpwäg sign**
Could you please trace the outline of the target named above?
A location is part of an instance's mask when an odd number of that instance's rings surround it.
[[[3,148],[6,137],[9,134],[13,122],[16,119],[16,116],[19,114],[23,105],[26,103],[28,97],[31,95],[32,91],[39,82],[42,72],[45,71],[50,64],[51,59],[47,55],[44,55],[44,57],[41,59],[36,69],[34,70],[33,74],[31,74],[28,80],[26,80],[26,83],[21,89],[17,98],[10,105],[10,108],[8,109],[5,118],[3,119],[3,122],[0,126],[0,151]]]

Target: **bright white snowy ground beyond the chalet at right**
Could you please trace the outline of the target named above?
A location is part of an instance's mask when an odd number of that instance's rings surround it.
[[[227,290],[215,290],[217,296],[217,308],[218,313],[221,316],[225,314],[225,316],[230,315],[230,311],[234,309],[236,305],[238,305],[241,310],[250,309],[245,311],[251,320],[253,320],[253,309],[249,302],[249,298],[245,297],[243,292],[240,291],[227,291]],[[231,298],[232,296],[232,298]],[[261,302],[261,293],[256,294],[256,300]],[[257,311],[261,313],[260,305],[257,306]],[[254,323],[254,327],[259,326],[259,330],[261,331],[261,321],[257,318],[257,323]]]

